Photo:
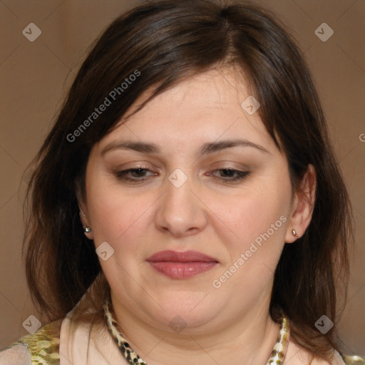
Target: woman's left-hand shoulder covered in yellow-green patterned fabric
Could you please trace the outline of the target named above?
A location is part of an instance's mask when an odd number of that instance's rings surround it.
[[[62,319],[22,336],[0,351],[0,365],[58,365]]]

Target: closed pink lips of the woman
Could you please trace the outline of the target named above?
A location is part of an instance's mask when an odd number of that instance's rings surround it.
[[[187,279],[206,272],[218,263],[216,259],[197,251],[160,251],[146,259],[161,274],[172,279]]]

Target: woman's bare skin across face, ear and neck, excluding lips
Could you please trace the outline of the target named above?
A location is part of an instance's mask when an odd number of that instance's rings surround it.
[[[175,365],[237,359],[266,364],[277,339],[279,325],[269,317],[274,270],[284,242],[296,240],[292,228],[300,237],[309,225],[315,173],[309,165],[304,195],[292,192],[287,158],[258,113],[249,115],[241,107],[250,95],[232,69],[202,73],[121,120],[91,150],[86,200],[80,204],[83,225],[92,228],[86,235],[96,248],[101,242],[113,247],[101,265],[114,315],[149,365],[170,364],[172,354]],[[266,152],[236,146],[198,153],[205,143],[237,138]],[[155,143],[160,152],[112,148],[125,140]],[[133,168],[150,171],[127,173],[133,182],[118,178],[118,171]],[[187,177],[181,187],[168,180],[177,168]],[[249,175],[230,182],[232,175],[223,169]],[[269,240],[220,288],[213,287],[212,281],[281,216],[287,220]],[[171,279],[146,262],[162,250],[196,250],[219,264],[189,279]],[[180,333],[169,325],[176,316],[186,326]],[[305,351],[292,341],[287,356],[290,364],[307,364]]]

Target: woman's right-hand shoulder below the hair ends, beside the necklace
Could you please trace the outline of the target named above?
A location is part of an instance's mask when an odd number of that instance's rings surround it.
[[[365,359],[359,356],[346,356],[339,354],[334,350],[334,355],[331,361],[324,361],[319,358],[312,359],[312,356],[307,349],[289,341],[287,355],[285,356],[284,365],[365,365]]]

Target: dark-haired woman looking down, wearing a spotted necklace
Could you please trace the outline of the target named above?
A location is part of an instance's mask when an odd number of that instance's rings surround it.
[[[120,16],[35,165],[26,272],[48,324],[0,364],[361,361],[335,332],[349,197],[307,66],[267,11]]]

